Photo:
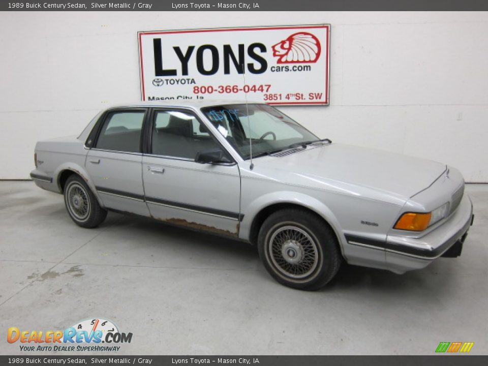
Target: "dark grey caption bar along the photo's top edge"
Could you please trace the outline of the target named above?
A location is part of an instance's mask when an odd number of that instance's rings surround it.
[[[1,11],[486,11],[485,0],[175,0],[2,2]]]

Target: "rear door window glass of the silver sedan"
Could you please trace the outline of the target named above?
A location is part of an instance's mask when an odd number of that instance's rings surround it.
[[[104,122],[97,148],[140,153],[143,111],[112,112]]]

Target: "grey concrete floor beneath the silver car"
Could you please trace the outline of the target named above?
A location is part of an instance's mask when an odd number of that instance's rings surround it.
[[[116,214],[82,229],[62,196],[0,182],[0,354],[20,353],[8,327],[95,317],[133,333],[119,355],[432,355],[441,341],[488,354],[488,185],[467,193],[476,217],[460,258],[401,276],[344,266],[302,292],[245,243]]]

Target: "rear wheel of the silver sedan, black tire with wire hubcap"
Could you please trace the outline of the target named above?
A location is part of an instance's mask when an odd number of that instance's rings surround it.
[[[73,174],[68,178],[64,196],[68,215],[78,226],[94,228],[107,217],[107,210],[100,206],[92,190],[79,175]]]

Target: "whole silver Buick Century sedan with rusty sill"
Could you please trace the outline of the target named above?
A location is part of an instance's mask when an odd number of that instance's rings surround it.
[[[453,167],[332,143],[260,103],[112,107],[79,136],[39,141],[35,163],[79,226],[111,210],[245,240],[298,289],[343,261],[404,273],[457,257],[473,221]]]

